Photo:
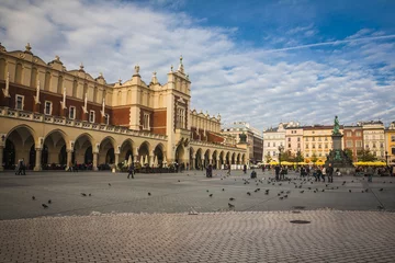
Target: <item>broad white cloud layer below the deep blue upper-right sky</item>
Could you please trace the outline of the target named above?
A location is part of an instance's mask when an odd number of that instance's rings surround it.
[[[177,67],[182,54],[192,80],[192,107],[221,113],[226,123],[248,121],[263,128],[291,119],[331,122],[335,115],[347,123],[379,115],[393,121],[391,39],[314,49],[271,47],[276,50],[271,53],[237,43],[237,28],[202,26],[201,19],[159,10],[114,1],[8,1],[0,7],[0,39],[8,50],[30,42],[46,61],[59,55],[69,70],[82,61],[89,73],[102,71],[108,82],[129,79],[138,64],[146,82],[157,71],[165,83],[170,65]],[[313,37],[316,32],[309,24],[289,33]],[[368,36],[383,33],[362,30],[348,39]],[[300,44],[291,38],[268,41]],[[331,49],[317,49],[321,46]],[[372,68],[373,62],[383,65]],[[392,76],[384,87],[379,84],[383,75]]]

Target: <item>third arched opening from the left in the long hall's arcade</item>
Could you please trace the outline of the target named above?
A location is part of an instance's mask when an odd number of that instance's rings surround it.
[[[76,139],[72,162],[86,165],[93,163],[92,138],[90,135],[82,134]]]

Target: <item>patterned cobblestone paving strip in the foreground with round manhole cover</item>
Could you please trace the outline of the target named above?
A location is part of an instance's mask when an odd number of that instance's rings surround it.
[[[44,217],[2,220],[0,232],[4,263],[395,261],[395,214],[384,211]]]

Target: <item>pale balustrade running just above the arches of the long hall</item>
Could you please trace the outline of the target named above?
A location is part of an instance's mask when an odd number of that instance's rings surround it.
[[[56,125],[63,125],[63,126],[68,126],[68,127],[75,127],[75,128],[99,130],[99,132],[112,133],[112,134],[124,134],[124,135],[129,135],[129,136],[149,138],[149,139],[167,140],[167,136],[165,136],[165,135],[157,135],[157,134],[151,134],[148,132],[133,130],[133,129],[128,129],[127,127],[122,127],[122,126],[103,125],[103,124],[98,124],[98,123],[89,123],[89,122],[83,122],[83,121],[69,119],[66,117],[49,116],[49,115],[44,115],[44,114],[40,114],[40,113],[24,112],[24,111],[8,108],[8,107],[0,107],[0,117],[19,118],[19,119],[25,119],[25,121],[31,121],[31,122],[37,122],[37,123],[48,123],[48,124],[56,124]]]

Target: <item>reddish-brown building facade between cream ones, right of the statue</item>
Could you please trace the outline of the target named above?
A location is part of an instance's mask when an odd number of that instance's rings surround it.
[[[352,151],[352,161],[358,161],[358,151],[363,149],[363,129],[361,125],[345,126],[343,148]]]

